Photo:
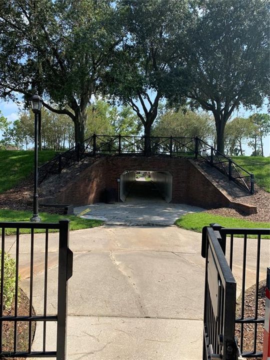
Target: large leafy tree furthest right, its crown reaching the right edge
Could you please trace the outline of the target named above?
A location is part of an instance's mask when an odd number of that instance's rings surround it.
[[[260,107],[268,94],[268,1],[203,0],[189,28],[186,66],[171,67],[178,78],[167,96],[211,111],[215,119],[217,150],[224,152],[224,128],[242,104]]]

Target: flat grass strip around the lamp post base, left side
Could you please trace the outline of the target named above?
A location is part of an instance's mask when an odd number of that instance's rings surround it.
[[[31,211],[17,211],[17,210],[0,209],[0,221],[29,221],[29,218],[31,216],[32,216]],[[67,218],[70,220],[70,222],[69,222],[70,230],[78,230],[78,229],[95,227],[95,226],[99,226],[103,223],[100,220],[81,219],[75,215],[57,215],[57,214],[48,214],[46,212],[40,212],[39,216],[41,217],[42,222],[58,222],[60,219]],[[50,231],[56,232],[57,230],[50,230]],[[35,232],[45,232],[45,230],[36,229]],[[0,233],[1,233],[1,230],[0,230]],[[7,228],[5,233],[7,235],[13,235],[16,233],[16,230]],[[30,233],[30,230],[20,229],[20,233]]]

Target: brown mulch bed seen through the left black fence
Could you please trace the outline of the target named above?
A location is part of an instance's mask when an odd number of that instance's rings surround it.
[[[9,311],[4,311],[4,315],[12,316],[14,315],[14,304]],[[27,315],[29,314],[29,299],[26,294],[20,289],[19,291],[19,304],[17,309],[18,315]],[[34,314],[34,309],[32,308],[32,314]],[[34,337],[35,331],[35,322],[32,322],[32,339]],[[28,350],[28,335],[29,335],[29,323],[27,321],[17,321],[17,351],[27,351]],[[13,321],[3,321],[2,323],[2,345],[3,351],[13,351],[14,345],[14,322]],[[18,360],[24,360],[24,357],[16,357]],[[7,357],[4,357],[7,359]]]

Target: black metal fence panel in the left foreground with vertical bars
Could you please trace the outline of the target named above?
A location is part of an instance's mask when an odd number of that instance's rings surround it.
[[[5,274],[5,252],[11,249],[10,241],[6,237],[8,229],[15,229],[15,240],[11,246],[14,246],[14,253],[12,253],[15,261],[15,277],[14,277],[14,299],[11,306],[11,310],[7,313],[5,311],[4,302],[4,288],[5,281],[10,281],[6,278]],[[29,229],[30,235],[25,236],[21,240],[20,232],[23,229]],[[35,230],[44,229],[43,239],[36,238]],[[6,357],[56,357],[57,360],[66,359],[66,304],[67,304],[67,280],[72,275],[72,252],[68,248],[68,233],[69,222],[68,220],[60,220],[59,223],[33,223],[33,222],[0,222],[1,230],[1,276],[0,276],[0,358]],[[50,230],[59,230],[58,240],[58,278],[56,279],[57,285],[57,297],[54,301],[51,298],[51,294],[48,294],[48,255],[50,245]],[[38,249],[36,250],[36,246]],[[29,248],[29,286],[28,286],[28,305],[25,313],[19,313],[19,264],[21,252],[25,252],[25,249]],[[43,290],[40,292],[40,288],[34,287],[34,269],[36,266],[35,256],[44,254],[43,264]],[[40,257],[40,256],[38,256]],[[37,259],[40,264],[40,258]],[[39,296],[39,304],[43,304],[42,309],[33,308],[33,298]],[[53,302],[53,308],[56,309],[55,314],[51,314],[51,304]],[[55,303],[54,303],[55,302]],[[40,305],[39,305],[40,306]],[[49,308],[48,308],[49,307]],[[48,346],[51,349],[51,343],[48,344],[47,340],[47,322],[56,322],[55,331],[55,350],[47,350]],[[24,336],[27,337],[27,343],[25,341],[21,343],[19,341],[21,331],[18,330],[19,323],[25,323]],[[3,330],[3,324],[10,324],[12,328],[12,335],[9,333],[9,339],[5,338]],[[41,326],[42,339],[39,339],[40,349],[32,351],[32,340],[34,335],[34,324]],[[50,329],[51,330],[51,329]],[[12,337],[12,339],[10,339]],[[8,340],[8,341],[7,341]]]

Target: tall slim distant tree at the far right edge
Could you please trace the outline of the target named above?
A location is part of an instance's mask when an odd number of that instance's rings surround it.
[[[263,156],[263,137],[270,133],[270,115],[255,113],[248,118],[250,120],[250,141],[248,145],[253,147],[253,156]]]

